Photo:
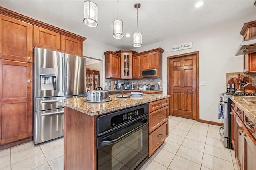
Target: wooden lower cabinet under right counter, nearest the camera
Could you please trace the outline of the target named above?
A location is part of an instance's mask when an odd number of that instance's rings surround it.
[[[256,139],[236,116],[236,161],[240,170],[256,169]]]

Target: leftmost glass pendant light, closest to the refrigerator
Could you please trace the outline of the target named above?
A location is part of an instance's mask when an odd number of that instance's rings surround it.
[[[84,24],[88,27],[98,25],[98,6],[92,0],[84,1]]]

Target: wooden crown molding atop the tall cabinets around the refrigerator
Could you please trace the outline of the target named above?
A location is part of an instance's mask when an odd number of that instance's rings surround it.
[[[43,27],[45,29],[49,29],[51,31],[54,31],[54,32],[57,32],[57,33],[60,33],[62,35],[66,35],[68,37],[72,37],[72,38],[75,38],[75,39],[78,39],[80,41],[84,41],[86,40],[85,37],[82,37],[80,35],[76,35],[74,33],[71,33],[69,31],[65,31],[63,29],[60,29],[58,27],[54,27],[52,25],[49,25],[47,23],[43,23],[41,21],[38,21],[38,20],[34,20],[33,18],[29,18],[27,16],[24,16],[22,14],[18,14],[17,12],[14,12],[14,11],[11,11],[11,10],[8,10],[6,8],[3,8],[0,6],[0,14],[3,14],[3,15],[6,15],[6,16],[9,16],[9,17],[12,17],[12,18],[15,18],[17,20],[21,20],[21,21],[24,21],[26,23],[30,23],[32,25],[36,25],[38,27]]]

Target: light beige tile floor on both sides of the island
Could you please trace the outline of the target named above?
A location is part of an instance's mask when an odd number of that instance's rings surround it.
[[[218,126],[169,117],[169,136],[140,170],[238,170],[234,150],[223,147]],[[63,138],[0,151],[1,170],[62,170]]]

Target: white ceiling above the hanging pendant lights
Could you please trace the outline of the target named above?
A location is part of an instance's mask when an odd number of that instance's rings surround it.
[[[119,19],[124,22],[124,35],[130,33],[131,36],[114,39],[112,21],[117,19],[117,0],[93,2],[99,8],[98,26],[94,28],[83,23],[84,0],[1,0],[1,6],[127,50],[134,49],[132,34],[136,31],[136,2],[141,4],[138,9],[138,31],[142,33],[142,46],[251,14],[256,15],[256,6],[253,5],[255,0],[205,0],[201,8],[194,7],[197,2],[194,0],[119,0]]]

